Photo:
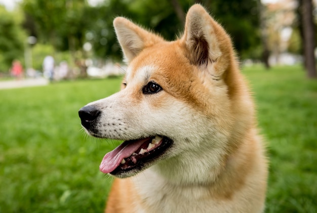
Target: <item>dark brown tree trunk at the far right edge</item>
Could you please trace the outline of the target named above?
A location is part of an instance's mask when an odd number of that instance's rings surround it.
[[[316,66],[314,56],[314,23],[312,15],[312,0],[302,0],[302,25],[304,34],[304,58],[307,76],[309,78],[316,78]]]

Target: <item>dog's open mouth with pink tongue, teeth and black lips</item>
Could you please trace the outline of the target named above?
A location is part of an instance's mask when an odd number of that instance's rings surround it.
[[[103,157],[99,169],[114,176],[133,170],[141,171],[159,158],[172,143],[171,139],[162,136],[125,141]]]

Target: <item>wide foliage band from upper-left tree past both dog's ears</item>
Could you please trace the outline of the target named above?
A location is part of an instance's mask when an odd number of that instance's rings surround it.
[[[21,6],[29,34],[41,43],[53,45],[55,51],[68,50],[73,59],[85,58],[87,52],[83,45],[89,42],[93,47],[90,56],[121,59],[112,26],[116,16],[130,18],[173,40],[183,31],[181,14],[185,15],[196,2],[204,5],[224,26],[243,58],[259,57],[254,54],[260,43],[255,0],[107,0],[96,7],[90,6],[87,0],[24,0]]]

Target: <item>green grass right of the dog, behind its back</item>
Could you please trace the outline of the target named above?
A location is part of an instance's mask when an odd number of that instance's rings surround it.
[[[299,66],[245,68],[270,160],[265,212],[317,210],[317,81]]]

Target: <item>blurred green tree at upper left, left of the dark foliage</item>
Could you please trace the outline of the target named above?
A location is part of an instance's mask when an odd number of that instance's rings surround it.
[[[24,26],[39,41],[53,45],[57,51],[69,50],[73,64],[82,66],[85,58],[85,32],[93,22],[86,0],[24,0]],[[86,75],[86,70],[82,73]]]

